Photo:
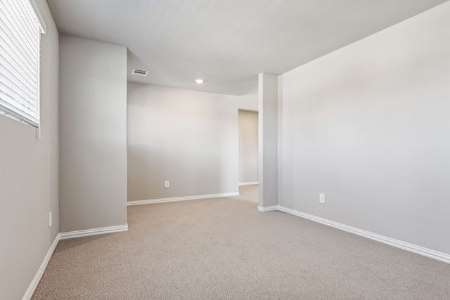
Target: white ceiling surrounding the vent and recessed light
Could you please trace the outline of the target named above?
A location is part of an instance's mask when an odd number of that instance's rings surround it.
[[[127,46],[129,81],[240,95],[446,0],[48,0],[60,33]],[[150,71],[131,75],[133,68]],[[205,83],[195,84],[203,78]]]

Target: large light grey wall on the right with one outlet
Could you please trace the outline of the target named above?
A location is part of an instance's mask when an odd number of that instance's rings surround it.
[[[280,205],[450,254],[449,15],[446,2],[278,78]]]

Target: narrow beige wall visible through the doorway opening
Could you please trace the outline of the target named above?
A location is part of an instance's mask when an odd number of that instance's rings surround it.
[[[258,181],[258,112],[239,110],[239,183]]]

